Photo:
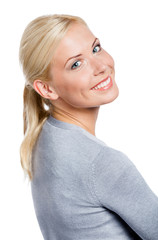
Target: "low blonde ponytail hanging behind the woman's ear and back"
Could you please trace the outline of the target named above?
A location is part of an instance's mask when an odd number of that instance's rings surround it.
[[[45,100],[31,86],[24,88],[23,103],[24,140],[20,147],[20,158],[24,172],[32,179],[32,150],[50,113],[45,109]]]

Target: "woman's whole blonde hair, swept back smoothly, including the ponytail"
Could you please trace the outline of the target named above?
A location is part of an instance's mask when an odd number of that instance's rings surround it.
[[[36,79],[49,81],[49,68],[60,40],[72,23],[85,23],[77,16],[54,14],[41,16],[26,27],[20,42],[19,59],[26,79],[23,93],[24,139],[20,146],[25,176],[32,179],[32,151],[42,126],[50,115],[50,102],[33,88]]]

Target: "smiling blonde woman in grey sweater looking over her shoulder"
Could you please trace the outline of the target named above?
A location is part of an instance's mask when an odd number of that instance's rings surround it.
[[[21,162],[46,240],[158,239],[158,198],[122,152],[95,136],[99,108],[118,96],[114,60],[79,17],[25,29]]]

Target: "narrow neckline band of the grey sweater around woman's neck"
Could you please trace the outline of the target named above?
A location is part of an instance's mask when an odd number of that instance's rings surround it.
[[[96,136],[94,136],[93,134],[91,134],[90,132],[88,132],[87,130],[85,130],[84,128],[82,128],[76,124],[67,123],[67,122],[58,120],[58,119],[54,118],[52,115],[50,115],[48,117],[47,121],[50,124],[52,124],[58,128],[63,128],[63,129],[67,129],[67,130],[77,130],[77,131],[83,133],[84,135],[86,135],[88,138],[90,138],[98,143],[101,143],[102,145],[106,145],[102,140],[98,139]]]

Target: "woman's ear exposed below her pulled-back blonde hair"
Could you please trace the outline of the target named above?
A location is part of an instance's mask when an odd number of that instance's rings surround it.
[[[56,100],[59,97],[59,95],[52,87],[50,87],[47,83],[41,80],[35,80],[33,83],[33,87],[35,91],[44,98]]]

